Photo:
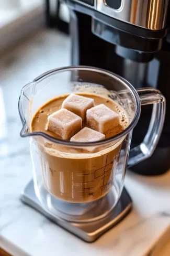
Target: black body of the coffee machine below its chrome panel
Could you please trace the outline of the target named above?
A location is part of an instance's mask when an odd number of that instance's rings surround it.
[[[93,8],[78,5],[69,0],[67,3],[72,9],[70,23],[72,65],[103,68],[126,78],[134,88],[153,87],[164,94],[167,111],[160,141],[149,159],[131,169],[142,175],[166,173],[170,168],[170,35],[168,28],[152,31],[112,19],[97,13]],[[97,24],[99,24],[98,28]],[[117,38],[113,38],[111,33]],[[149,127],[151,113],[151,105],[142,106],[139,123],[133,131],[132,147],[142,142]]]

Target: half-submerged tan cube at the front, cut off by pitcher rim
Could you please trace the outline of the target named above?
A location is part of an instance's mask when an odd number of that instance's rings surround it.
[[[105,135],[96,132],[90,128],[84,127],[80,132],[75,134],[70,141],[74,142],[93,142],[105,140]]]

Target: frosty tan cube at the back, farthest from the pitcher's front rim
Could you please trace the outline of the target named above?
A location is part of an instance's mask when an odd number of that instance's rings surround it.
[[[94,99],[83,97],[77,94],[70,94],[62,104],[63,109],[70,110],[86,120],[86,111],[94,106]]]

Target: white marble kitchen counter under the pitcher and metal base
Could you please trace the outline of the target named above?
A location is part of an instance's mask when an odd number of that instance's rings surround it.
[[[28,139],[19,136],[19,92],[40,73],[69,65],[69,51],[67,36],[43,30],[0,59],[0,247],[15,256],[152,255],[170,227],[170,172],[160,177],[129,172],[125,185],[133,210],[94,243],[78,239],[20,201],[31,178],[31,160]]]

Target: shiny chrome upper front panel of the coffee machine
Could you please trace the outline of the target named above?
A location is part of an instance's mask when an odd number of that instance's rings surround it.
[[[92,16],[95,20],[95,12],[90,12],[90,9],[94,9],[106,16],[120,20],[120,22],[126,22],[150,30],[160,30],[166,27],[166,14],[168,13],[167,3],[169,0],[65,0],[65,2],[70,3],[72,9],[77,10],[77,12],[86,14],[87,10],[87,14]],[[138,6],[136,2],[138,2]],[[149,6],[148,2],[156,2],[157,4]],[[73,3],[77,3],[77,5]],[[85,10],[80,5],[86,6],[88,9]],[[150,22],[148,14],[153,17],[153,22]],[[103,22],[105,17],[98,16],[98,18],[99,17],[101,19],[100,21]],[[154,17],[157,18],[155,19]]]

